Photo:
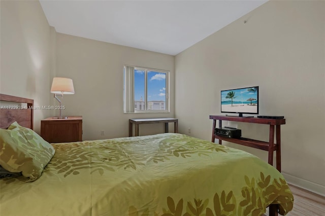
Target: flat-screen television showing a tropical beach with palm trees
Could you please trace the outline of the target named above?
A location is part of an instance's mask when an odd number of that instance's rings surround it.
[[[221,113],[258,114],[258,86],[221,90]]]

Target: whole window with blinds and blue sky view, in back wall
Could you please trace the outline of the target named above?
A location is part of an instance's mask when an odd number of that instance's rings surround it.
[[[169,112],[169,71],[124,66],[124,113]]]

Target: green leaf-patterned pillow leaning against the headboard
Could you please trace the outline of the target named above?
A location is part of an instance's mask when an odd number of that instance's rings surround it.
[[[21,172],[28,182],[41,176],[55,153],[40,135],[14,122],[8,130],[0,129],[0,165],[10,172]]]

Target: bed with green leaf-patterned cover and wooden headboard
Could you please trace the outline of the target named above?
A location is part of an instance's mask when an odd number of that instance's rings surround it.
[[[32,133],[25,128],[32,129],[33,101],[0,99],[31,108],[23,114],[1,110],[2,134]],[[270,215],[285,215],[293,208],[293,195],[274,167],[184,134],[50,146],[44,152],[55,152],[36,179],[0,179],[0,215],[263,215],[268,206]]]

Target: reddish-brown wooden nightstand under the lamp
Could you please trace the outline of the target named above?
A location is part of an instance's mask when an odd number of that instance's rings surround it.
[[[52,117],[43,119],[41,136],[50,143],[82,141],[82,116],[69,116],[68,119]]]

